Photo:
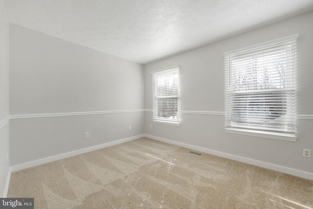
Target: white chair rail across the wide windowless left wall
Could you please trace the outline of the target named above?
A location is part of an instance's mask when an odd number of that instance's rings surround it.
[[[97,112],[78,112],[78,113],[46,113],[46,114],[26,114],[26,115],[12,115],[11,119],[35,118],[35,117],[61,117],[61,116],[86,116],[86,115],[100,115],[113,113],[135,113],[144,112],[144,110],[114,110],[114,111],[97,111]]]

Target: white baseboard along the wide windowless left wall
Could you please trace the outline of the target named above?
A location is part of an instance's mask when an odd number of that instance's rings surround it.
[[[113,145],[116,145],[116,144],[124,143],[124,142],[131,141],[131,140],[134,140],[134,139],[140,139],[142,137],[144,137],[143,134],[142,135],[137,135],[137,136],[134,136],[134,137],[130,137],[130,138],[126,138],[126,139],[120,139],[120,140],[116,140],[116,141],[111,141],[111,142],[104,143],[104,144],[99,144],[99,145],[96,145],[96,146],[92,146],[92,147],[88,147],[88,148],[84,148],[84,149],[80,149],[80,150],[76,150],[76,151],[72,151],[72,152],[67,152],[67,153],[64,153],[64,154],[61,154],[61,155],[56,155],[56,156],[40,159],[40,160],[37,160],[37,161],[32,161],[32,162],[19,164],[19,165],[14,165],[14,166],[12,166],[12,172],[18,171],[18,170],[22,170],[22,169],[25,169],[25,168],[29,168],[29,167],[33,167],[33,166],[37,166],[37,165],[41,165],[41,164],[44,164],[44,163],[50,163],[50,162],[53,162],[53,161],[62,160],[62,159],[68,158],[68,157],[72,157],[72,156],[75,156],[75,155],[91,152],[91,151],[94,151],[94,150],[97,150],[97,149],[102,149],[102,148],[105,148],[105,147],[109,147],[109,146],[113,146]]]

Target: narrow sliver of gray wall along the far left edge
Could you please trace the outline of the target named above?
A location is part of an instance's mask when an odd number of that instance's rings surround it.
[[[4,188],[9,170],[6,156],[9,147],[9,22],[5,0],[0,0],[0,196],[4,196]]]

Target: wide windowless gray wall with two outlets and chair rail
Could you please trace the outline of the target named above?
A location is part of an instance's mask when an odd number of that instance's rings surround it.
[[[142,65],[10,24],[11,166],[144,133],[143,111],[31,116],[143,109]]]

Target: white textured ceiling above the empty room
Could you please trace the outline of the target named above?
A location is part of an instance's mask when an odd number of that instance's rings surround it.
[[[6,0],[9,21],[145,64],[313,10],[313,0]]]

